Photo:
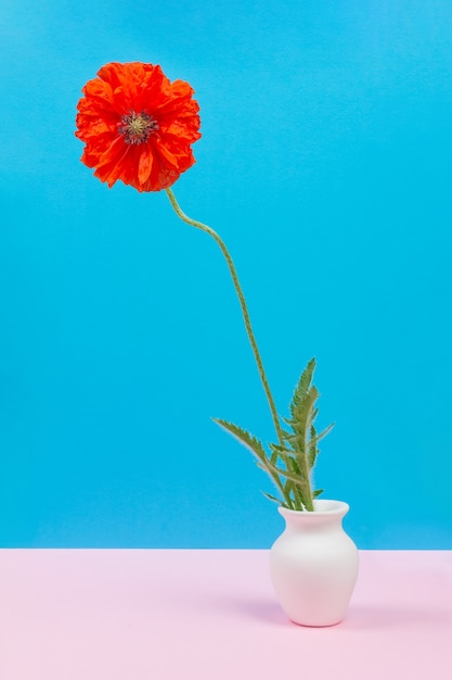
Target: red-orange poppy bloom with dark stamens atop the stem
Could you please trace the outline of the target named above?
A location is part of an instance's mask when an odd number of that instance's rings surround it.
[[[108,187],[120,179],[139,191],[159,191],[195,163],[199,106],[188,83],[170,83],[160,66],[111,63],[82,92],[76,119],[76,136],[86,143],[81,161]]]

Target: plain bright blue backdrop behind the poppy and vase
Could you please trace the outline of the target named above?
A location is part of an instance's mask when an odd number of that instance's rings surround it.
[[[363,549],[452,547],[450,0],[3,0],[0,544],[267,547],[273,440],[215,242],[109,190],[75,108],[109,61],[201,105],[173,187],[237,266],[276,403],[318,360],[317,481]]]

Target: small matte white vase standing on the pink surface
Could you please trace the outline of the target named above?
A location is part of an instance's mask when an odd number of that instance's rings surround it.
[[[314,501],[314,512],[279,507],[286,527],[270,551],[270,576],[295,624],[334,626],[347,612],[358,577],[358,549],[344,531],[349,506]]]

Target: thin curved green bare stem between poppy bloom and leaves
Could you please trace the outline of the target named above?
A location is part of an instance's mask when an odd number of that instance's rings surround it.
[[[218,236],[218,234],[214,229],[211,229],[207,225],[203,224],[202,222],[197,222],[196,219],[192,219],[191,217],[185,215],[185,213],[182,212],[182,210],[180,209],[180,205],[179,205],[178,201],[176,200],[176,197],[175,197],[175,194],[173,194],[171,189],[169,189],[169,188],[166,189],[166,192],[168,194],[169,202],[171,203],[171,205],[172,205],[176,214],[178,215],[178,217],[180,217],[182,219],[182,222],[185,222],[186,224],[191,225],[192,227],[196,227],[197,229],[201,229],[202,231],[206,231],[206,234],[209,234],[217,241],[218,245],[220,247],[221,252],[224,255],[224,259],[225,259],[225,261],[228,263],[228,267],[229,267],[229,270],[230,270],[230,274],[231,274],[231,277],[232,277],[232,281],[234,284],[235,292],[237,293],[238,301],[241,303],[242,314],[243,314],[243,319],[245,322],[246,332],[248,335],[249,343],[251,345],[253,353],[255,355],[257,368],[259,370],[259,376],[260,376],[260,379],[262,381],[262,386],[263,386],[263,390],[266,392],[267,401],[269,402],[270,412],[271,412],[271,415],[272,415],[272,418],[273,418],[273,424],[274,424],[274,428],[276,430],[277,439],[280,440],[281,445],[283,445],[284,438],[283,438],[283,432],[282,432],[281,425],[280,425],[280,419],[277,417],[276,407],[274,405],[273,396],[272,396],[272,393],[270,391],[270,387],[269,387],[269,382],[267,380],[266,372],[263,369],[262,360],[260,357],[260,352],[259,352],[259,349],[258,349],[257,343],[256,343],[255,335],[253,332],[251,322],[249,320],[249,313],[248,313],[248,308],[246,306],[245,297],[244,297],[243,291],[242,291],[242,286],[240,285],[237,273],[236,273],[234,263],[232,261],[232,257],[231,257],[231,255],[229,253],[229,250],[227,249],[227,247],[223,243],[222,239]]]

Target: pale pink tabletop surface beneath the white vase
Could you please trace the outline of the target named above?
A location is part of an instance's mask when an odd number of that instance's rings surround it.
[[[268,551],[0,551],[1,680],[452,680],[452,551],[364,551],[345,620],[281,612]]]

